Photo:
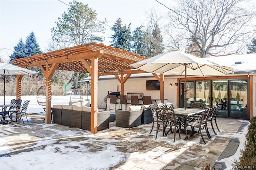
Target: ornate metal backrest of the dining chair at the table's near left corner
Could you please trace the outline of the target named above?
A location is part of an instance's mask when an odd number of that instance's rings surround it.
[[[156,108],[156,118],[157,120],[162,120],[168,124],[168,121],[175,121],[175,113],[173,109],[170,108]]]

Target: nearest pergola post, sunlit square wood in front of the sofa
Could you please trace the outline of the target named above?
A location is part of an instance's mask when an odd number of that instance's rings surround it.
[[[98,58],[92,58],[91,72],[91,133],[98,132]]]

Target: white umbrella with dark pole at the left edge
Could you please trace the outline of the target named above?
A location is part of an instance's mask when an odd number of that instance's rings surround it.
[[[23,75],[23,74],[36,74],[38,72],[34,72],[32,70],[28,70],[26,68],[14,66],[9,63],[0,63],[0,74],[4,75],[4,104],[5,104],[5,76],[6,75]]]

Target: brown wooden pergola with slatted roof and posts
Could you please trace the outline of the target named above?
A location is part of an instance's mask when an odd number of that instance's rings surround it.
[[[46,52],[25,58],[19,58],[12,62],[23,68],[39,67],[46,78],[46,124],[50,124],[51,113],[51,78],[56,69],[74,72],[89,73],[92,83],[91,96],[91,133],[97,133],[97,108],[98,108],[98,77],[103,75],[115,75],[121,84],[121,95],[124,95],[124,83],[131,74],[146,73],[137,70],[130,64],[145,60],[146,57],[97,44],[95,42]],[[160,82],[160,99],[164,101],[164,75],[152,73]],[[21,97],[22,75],[17,76],[16,97]]]

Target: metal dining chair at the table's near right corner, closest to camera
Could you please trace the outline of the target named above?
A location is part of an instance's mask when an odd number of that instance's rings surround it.
[[[188,118],[191,119],[191,121],[186,123],[186,129],[188,128],[188,126],[190,126],[191,129],[192,129],[190,137],[194,135],[195,128],[199,128],[199,132],[201,134],[201,137],[202,137],[202,140],[203,140],[204,144],[206,144],[206,142],[205,142],[204,136],[202,134],[202,128],[205,128],[206,134],[207,134],[208,138],[210,139],[209,131],[208,131],[208,128],[206,126],[207,117],[208,117],[208,114],[210,112],[210,109],[211,108],[208,108],[207,110],[203,110],[202,112],[198,113],[198,116],[193,115],[192,117],[188,117]],[[185,132],[186,132],[186,138],[185,138],[185,140],[186,140],[188,138],[187,137],[187,130],[185,130]]]

